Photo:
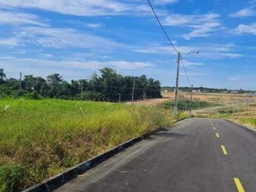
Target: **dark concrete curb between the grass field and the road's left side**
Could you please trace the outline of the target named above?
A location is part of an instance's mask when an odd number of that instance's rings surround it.
[[[180,120],[175,120],[174,123],[180,122],[181,120],[184,120],[186,118],[182,118]],[[54,177],[51,177],[50,179],[47,179],[43,182],[40,182],[39,184],[36,184],[35,186],[32,186],[31,188],[25,189],[22,192],[43,192],[43,191],[53,191],[54,189],[59,188],[63,184],[67,183],[68,181],[74,179],[78,175],[83,174],[84,172],[90,170],[91,168],[97,166],[98,164],[108,160],[110,157],[115,156],[119,152],[122,152],[126,148],[131,147],[135,143],[138,143],[139,141],[148,138],[152,134],[156,134],[158,131],[164,130],[163,128],[154,129],[152,131],[149,131],[142,136],[138,136],[137,138],[134,138],[132,140],[129,140],[121,145],[118,145],[115,148],[112,148],[105,152],[104,154],[100,154],[99,156],[93,157],[92,159],[89,159],[88,161],[85,161],[83,163],[77,164],[76,166],[68,169],[67,171],[60,173],[58,175],[55,175]]]

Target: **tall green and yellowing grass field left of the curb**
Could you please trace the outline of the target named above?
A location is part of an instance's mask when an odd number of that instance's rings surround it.
[[[151,129],[173,124],[172,111],[150,106],[0,100],[0,109],[5,106],[10,108],[0,115],[0,191],[28,188]]]

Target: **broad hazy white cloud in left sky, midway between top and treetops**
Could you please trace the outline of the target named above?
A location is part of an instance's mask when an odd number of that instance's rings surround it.
[[[110,51],[116,47],[125,47],[108,38],[82,33],[72,28],[40,28],[25,27],[21,28],[20,33],[15,38],[19,39],[20,44],[34,44],[41,47],[63,49],[67,47],[79,47],[84,49],[104,48]]]

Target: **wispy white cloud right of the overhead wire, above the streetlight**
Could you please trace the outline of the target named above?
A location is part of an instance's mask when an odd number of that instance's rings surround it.
[[[163,24],[166,26],[186,26],[193,31],[183,35],[186,40],[194,37],[209,36],[215,31],[223,29],[217,13],[204,15],[180,15],[173,14],[166,17]]]

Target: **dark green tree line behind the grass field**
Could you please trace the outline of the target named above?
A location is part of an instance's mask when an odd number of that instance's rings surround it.
[[[65,81],[60,74],[44,79],[26,75],[19,79],[7,78],[0,68],[0,97],[29,97],[30,99],[56,98],[70,100],[111,101],[152,99],[161,97],[161,83],[153,78],[122,76],[108,67],[88,79]],[[20,86],[21,85],[21,86]],[[133,93],[133,94],[132,94]]]

